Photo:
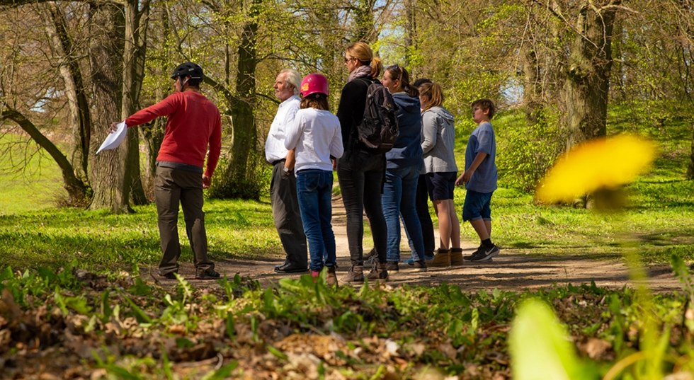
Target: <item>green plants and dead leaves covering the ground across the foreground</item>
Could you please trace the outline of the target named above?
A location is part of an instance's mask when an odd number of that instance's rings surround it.
[[[29,292],[32,287],[24,285],[39,277],[33,270],[24,275],[4,272],[0,284]],[[489,376],[501,376],[508,374],[509,357],[514,379],[615,379],[620,374],[622,379],[650,379],[654,374],[693,370],[686,364],[694,352],[691,330],[681,321],[688,294],[652,295],[649,301],[629,289],[614,291],[595,284],[534,293],[496,289],[470,293],[447,284],[334,289],[323,280],[313,282],[308,275],[265,289],[241,277],[222,280],[217,290],[198,289],[180,279],[173,289],[147,282],[151,292],[135,294],[123,289],[137,289],[139,277],[114,281],[91,274],[89,278],[69,289],[60,285],[64,280],[58,277],[45,278],[45,291],[33,292],[38,294],[31,296],[35,301],[18,307],[26,313],[26,321],[47,318],[41,311],[44,308],[59,310],[51,313],[53,326],[89,321],[72,327],[70,339],[81,339],[82,345],[92,347],[93,362],[83,365],[104,369],[113,378],[170,378],[186,357],[199,355],[205,341],[212,342],[213,351],[207,355],[217,355],[220,363],[223,359],[227,364],[218,369],[199,364],[199,376],[237,376],[241,362],[245,371],[267,365],[284,374],[283,366],[296,355],[293,350],[300,350],[286,342],[301,342],[299,336],[307,337],[309,347],[320,346],[313,342],[318,337],[343,345],[334,355],[313,351],[318,360],[314,368],[326,378],[336,368],[352,371],[354,378],[386,374],[410,378],[420,366],[476,377],[468,372],[471,365]],[[11,302],[6,296],[0,301]],[[647,315],[652,316],[650,322],[644,318]],[[114,326],[118,328],[113,330]],[[646,338],[649,331],[656,334]],[[110,339],[108,334],[115,334],[122,343],[106,349],[103,343]],[[569,335],[576,345],[567,339]],[[586,340],[609,345],[589,358],[586,348],[578,344]],[[40,349],[55,344],[45,342]],[[268,364],[235,354],[246,350]],[[394,370],[389,358],[409,364]]]

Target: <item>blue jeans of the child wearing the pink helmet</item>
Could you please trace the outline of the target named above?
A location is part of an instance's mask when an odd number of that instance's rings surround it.
[[[307,169],[297,173],[297,197],[304,234],[309,243],[311,270],[319,272],[323,266],[336,265],[335,234],[330,224],[333,173]]]

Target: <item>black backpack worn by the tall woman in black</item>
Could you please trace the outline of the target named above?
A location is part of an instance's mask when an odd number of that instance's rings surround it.
[[[385,153],[393,149],[398,134],[396,111],[397,105],[390,91],[379,81],[370,81],[364,118],[357,125],[357,138],[368,151]]]

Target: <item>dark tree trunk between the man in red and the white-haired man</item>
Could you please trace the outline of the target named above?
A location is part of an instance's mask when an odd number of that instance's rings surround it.
[[[256,33],[258,23],[256,16],[262,0],[253,0],[250,20],[244,25],[239,45],[238,75],[236,81],[239,99],[232,103],[233,120],[232,147],[229,152],[229,164],[224,169],[220,185],[212,189],[212,197],[258,199],[260,184],[256,176],[258,165],[258,136],[255,115],[253,112],[256,93]]]

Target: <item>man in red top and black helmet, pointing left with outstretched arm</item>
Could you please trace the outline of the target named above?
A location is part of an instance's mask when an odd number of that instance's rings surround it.
[[[220,277],[215,263],[207,258],[207,235],[203,213],[203,188],[211,183],[222,147],[220,111],[200,93],[203,69],[198,64],[180,64],[171,75],[176,91],[159,103],[144,108],[125,119],[127,127],[141,125],[166,116],[166,131],[157,156],[154,197],[159,215],[159,236],[164,256],[159,275],[174,279],[178,272],[178,202],[183,208],[186,234],[193,249],[195,278],[213,280]],[[115,130],[114,123],[111,126]],[[209,154],[207,149],[209,147]],[[205,155],[207,168],[203,171]]]

